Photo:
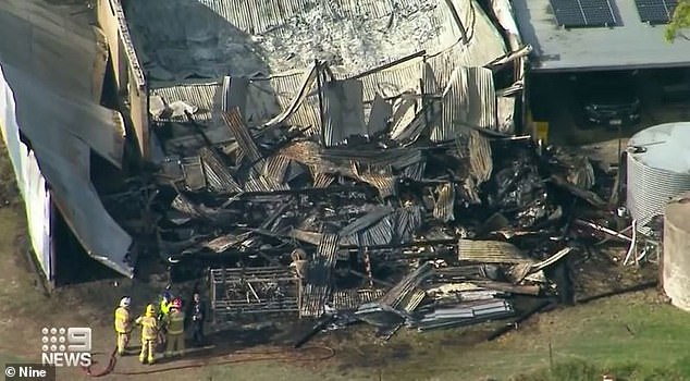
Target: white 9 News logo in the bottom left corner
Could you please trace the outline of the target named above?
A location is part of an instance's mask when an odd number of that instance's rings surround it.
[[[91,366],[91,329],[44,328],[41,362],[54,367]]]

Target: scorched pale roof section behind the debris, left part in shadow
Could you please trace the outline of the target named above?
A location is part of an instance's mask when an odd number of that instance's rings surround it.
[[[456,64],[476,66],[505,50],[475,1],[131,1],[125,13],[156,81],[268,76],[315,59],[357,74],[451,47]]]

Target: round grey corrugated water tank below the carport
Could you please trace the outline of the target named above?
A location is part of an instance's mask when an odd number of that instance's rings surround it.
[[[671,197],[690,190],[690,123],[642,130],[628,142],[627,153],[627,206],[638,231],[645,232]]]

